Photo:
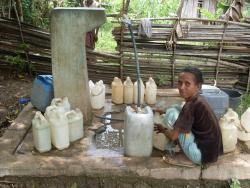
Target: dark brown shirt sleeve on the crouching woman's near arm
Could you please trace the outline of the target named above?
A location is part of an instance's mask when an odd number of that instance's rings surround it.
[[[179,114],[179,117],[174,124],[174,129],[178,130],[181,133],[188,133],[191,132],[193,123],[194,123],[194,114],[193,114],[192,104],[190,104],[190,102],[187,102],[183,106]]]

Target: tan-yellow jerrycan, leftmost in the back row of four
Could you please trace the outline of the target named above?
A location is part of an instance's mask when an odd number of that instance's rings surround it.
[[[114,77],[111,84],[112,88],[112,102],[115,104],[123,104],[123,84],[120,78]]]

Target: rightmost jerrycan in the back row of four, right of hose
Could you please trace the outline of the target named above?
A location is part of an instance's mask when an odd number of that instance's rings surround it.
[[[152,77],[146,82],[145,101],[152,105],[156,103],[157,85]]]

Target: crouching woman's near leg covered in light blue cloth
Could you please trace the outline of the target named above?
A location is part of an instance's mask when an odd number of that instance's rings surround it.
[[[201,151],[194,141],[194,135],[190,133],[180,133],[179,143],[185,155],[195,164],[201,165]]]

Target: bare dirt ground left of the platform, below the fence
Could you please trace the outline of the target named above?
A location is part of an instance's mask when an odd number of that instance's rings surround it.
[[[20,112],[19,99],[30,99],[32,77],[0,74],[0,137]]]

